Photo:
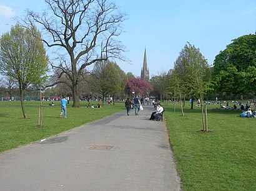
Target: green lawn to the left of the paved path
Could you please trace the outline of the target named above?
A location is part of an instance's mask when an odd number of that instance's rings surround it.
[[[23,118],[20,101],[0,101],[0,152],[54,136],[125,109],[124,103],[86,108],[87,101],[81,101],[80,108],[72,108],[72,103],[67,105],[67,118],[59,118],[60,101],[54,103],[56,106],[48,106],[47,101],[42,103],[42,124],[46,127],[36,128],[39,101],[26,101],[29,119]],[[97,105],[96,102],[91,103]]]

